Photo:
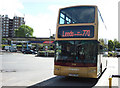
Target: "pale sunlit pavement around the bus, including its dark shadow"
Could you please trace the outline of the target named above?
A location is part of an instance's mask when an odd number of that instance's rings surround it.
[[[97,81],[94,79],[55,76],[54,58],[32,54],[6,53],[0,55],[0,84],[3,86],[109,86],[109,76],[118,74],[118,58],[107,58],[108,68]],[[118,78],[112,80],[118,86]]]

